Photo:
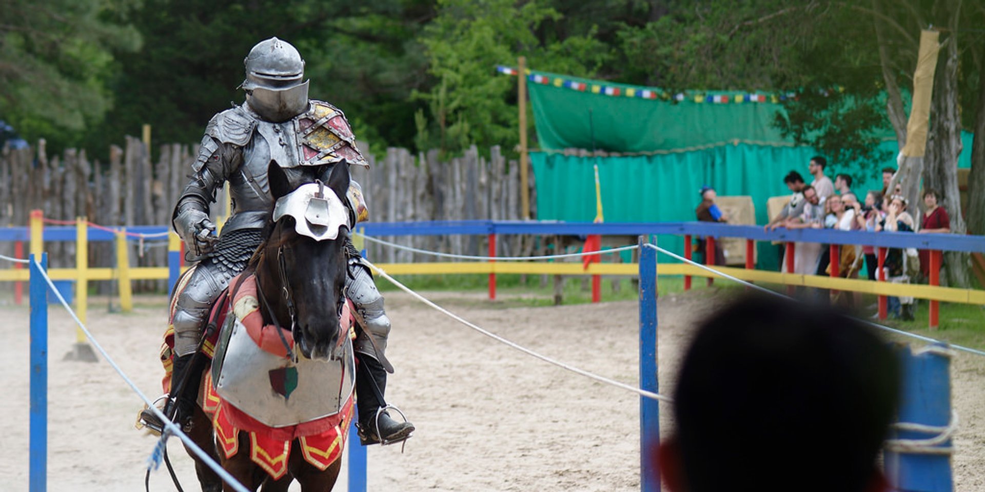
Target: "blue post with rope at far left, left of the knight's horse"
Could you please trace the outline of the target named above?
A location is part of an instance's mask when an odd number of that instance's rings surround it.
[[[33,254],[31,263],[31,449],[30,490],[47,490],[48,458],[48,284],[43,271],[48,254],[41,253],[40,266]]]

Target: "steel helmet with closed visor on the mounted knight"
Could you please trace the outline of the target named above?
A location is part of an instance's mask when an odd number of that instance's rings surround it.
[[[243,59],[246,103],[262,118],[281,122],[307,110],[308,81],[297,49],[277,37],[258,42]]]

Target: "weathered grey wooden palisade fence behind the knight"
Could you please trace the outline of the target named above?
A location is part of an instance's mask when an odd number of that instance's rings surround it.
[[[168,144],[161,146],[155,162],[144,143],[132,137],[127,137],[123,148],[110,147],[108,162],[91,160],[86,151],[75,149],[49,155],[43,140],[33,148],[4,148],[0,154],[0,224],[27,225],[34,209],[44,211],[49,219],[85,216],[109,227],[169,224],[196,153],[197,146]],[[437,151],[415,155],[396,148],[388,149],[382,158],[366,157],[369,169],[353,167],[353,175],[361,183],[372,221],[520,217],[519,170],[514,160],[507,163],[497,146],[489,157],[480,155],[476,147],[446,160],[439,159]],[[226,208],[225,192],[221,192],[213,214],[217,219],[225,216]],[[487,247],[481,236],[384,239],[455,254],[483,254]],[[500,256],[520,254],[523,246],[518,237],[497,238]],[[166,265],[166,240],[131,241],[130,247],[132,266]],[[370,258],[381,262],[432,260],[370,243],[365,247]],[[74,244],[51,243],[47,250],[52,267],[74,265]],[[0,244],[0,252],[13,255],[15,247]],[[106,246],[93,248],[90,257],[93,267],[112,267],[115,255]],[[138,291],[163,291],[164,281],[141,280],[134,286]]]

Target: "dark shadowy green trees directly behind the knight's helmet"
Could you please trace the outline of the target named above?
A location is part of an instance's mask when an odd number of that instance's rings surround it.
[[[197,142],[209,118],[243,100],[242,60],[271,36],[294,44],[306,61],[310,95],[344,111],[370,142],[411,146],[410,92],[423,89],[426,59],[415,37],[433,17],[425,0],[172,0],[134,16],[147,42],[119,56],[112,81],[118,103],[89,131],[88,147],[154,127],[156,142]]]

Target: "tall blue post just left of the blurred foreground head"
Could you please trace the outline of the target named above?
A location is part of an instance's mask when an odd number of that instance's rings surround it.
[[[639,237],[639,382],[659,393],[657,381],[657,251]],[[643,492],[660,492],[660,402],[639,398],[639,464]]]

